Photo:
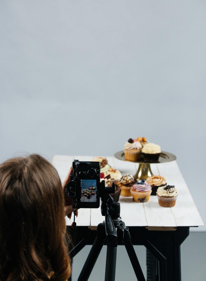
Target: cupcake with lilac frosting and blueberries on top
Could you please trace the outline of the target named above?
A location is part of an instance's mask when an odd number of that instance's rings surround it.
[[[137,180],[130,190],[135,202],[144,203],[150,199],[151,185],[146,180]]]

